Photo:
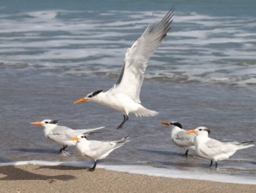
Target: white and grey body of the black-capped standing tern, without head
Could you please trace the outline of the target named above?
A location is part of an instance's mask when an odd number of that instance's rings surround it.
[[[172,126],[171,129],[171,141],[176,146],[183,148],[185,150],[195,150],[194,137],[195,134],[184,133],[186,130],[181,129],[178,126]]]

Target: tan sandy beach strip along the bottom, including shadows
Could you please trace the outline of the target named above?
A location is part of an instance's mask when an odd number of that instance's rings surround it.
[[[0,192],[256,192],[256,185],[174,179],[67,166],[0,167]]]

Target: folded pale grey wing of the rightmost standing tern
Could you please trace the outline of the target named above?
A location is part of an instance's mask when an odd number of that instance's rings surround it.
[[[232,155],[235,150],[234,145],[222,143],[215,139],[209,139],[209,141],[205,143],[205,147],[200,149],[201,153],[210,156],[211,158],[221,154]]]

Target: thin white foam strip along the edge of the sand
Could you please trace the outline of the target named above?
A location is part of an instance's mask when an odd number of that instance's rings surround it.
[[[17,161],[17,162],[4,162],[0,163],[0,166],[14,166],[14,165],[46,165],[46,166],[73,166],[73,167],[90,167],[91,164],[85,161]],[[161,177],[174,177],[182,179],[195,179],[195,180],[208,180],[216,182],[227,182],[227,183],[236,183],[236,184],[256,184],[255,177],[248,176],[234,176],[234,175],[225,175],[225,174],[216,174],[213,172],[204,173],[198,171],[185,171],[177,169],[165,169],[152,166],[141,166],[141,165],[103,165],[98,164],[98,168],[127,172],[130,174],[142,174],[149,176],[161,176]]]

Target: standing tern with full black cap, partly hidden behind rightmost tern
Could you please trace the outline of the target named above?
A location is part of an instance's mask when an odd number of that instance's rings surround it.
[[[161,124],[170,126],[171,140],[176,146],[185,149],[186,157],[188,157],[189,150],[195,150],[195,144],[194,144],[195,134],[184,133],[184,131],[186,130],[183,129],[182,125],[177,121],[171,121],[170,123],[165,121],[165,122],[162,122]]]

